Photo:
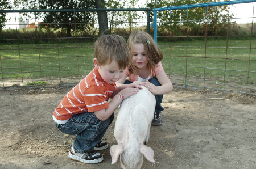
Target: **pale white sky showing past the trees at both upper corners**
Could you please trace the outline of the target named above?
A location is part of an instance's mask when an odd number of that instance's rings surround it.
[[[143,3],[143,2],[141,2]],[[254,13],[253,13],[254,9]],[[234,14],[234,18],[239,18],[239,19],[234,19],[232,21],[236,21],[237,23],[243,24],[243,23],[251,23],[252,22],[252,17],[256,17],[256,3],[240,3],[236,5],[230,5],[230,12]],[[20,14],[16,13],[16,23],[18,24],[18,17]],[[6,26],[4,29],[8,29],[9,27],[11,29],[16,29],[15,26],[15,15],[14,13],[9,13],[8,15],[11,17],[11,20],[6,23]],[[39,22],[41,20],[38,20]],[[29,23],[35,22],[35,20],[30,20]],[[254,18],[254,22],[256,22],[256,18]]]

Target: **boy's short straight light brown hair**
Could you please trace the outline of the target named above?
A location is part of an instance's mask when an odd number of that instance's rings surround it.
[[[131,57],[126,41],[119,35],[102,35],[95,42],[95,58],[98,65],[105,65],[114,59],[120,69],[126,69]]]

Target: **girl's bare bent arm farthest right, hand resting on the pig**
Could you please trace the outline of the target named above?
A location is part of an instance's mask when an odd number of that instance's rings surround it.
[[[148,81],[143,82],[144,86],[146,86],[148,90],[152,92],[152,94],[163,95],[168,94],[172,91],[172,82],[167,77],[165,71],[161,71],[158,75],[156,75],[156,78],[158,78],[158,81],[162,86],[155,86],[154,84]]]

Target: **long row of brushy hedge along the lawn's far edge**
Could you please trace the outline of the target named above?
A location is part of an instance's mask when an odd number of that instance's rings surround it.
[[[207,37],[208,39],[223,39],[226,37],[227,32],[229,30],[229,36],[250,36],[251,35],[251,23],[247,24],[230,24],[223,27],[214,27],[211,28],[208,26]],[[138,29],[146,31],[147,27],[133,27],[133,28],[112,28],[111,33],[115,33],[121,35],[127,39],[129,37],[130,32]],[[154,35],[154,29],[150,29],[150,35]],[[38,29],[6,29],[0,32],[0,43],[8,43],[8,44],[44,44],[44,43],[71,43],[73,41],[77,42],[86,42],[86,41],[94,41],[94,38],[98,36],[98,29],[94,29],[93,31],[88,31],[84,29],[83,31],[72,31],[72,37],[68,37],[67,31],[65,29],[51,29],[51,28],[38,28]],[[253,36],[256,35],[256,23],[253,23]],[[187,27],[182,25],[176,25],[175,28],[159,28],[158,29],[158,41],[184,41],[186,40],[186,36],[189,36],[188,40],[205,40],[205,25],[201,24],[196,27]],[[191,37],[192,36],[192,37]],[[237,37],[238,38],[238,37]],[[239,37],[241,38],[241,37]],[[250,37],[243,37],[243,39],[249,39]]]

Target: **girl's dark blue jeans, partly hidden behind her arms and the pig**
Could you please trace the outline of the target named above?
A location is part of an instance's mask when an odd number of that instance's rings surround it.
[[[154,84],[155,86],[161,86],[158,81],[158,78],[154,77],[149,80],[150,83]],[[131,84],[130,81],[126,80],[123,84]],[[162,113],[161,111],[164,110],[161,103],[163,102],[163,95],[155,95],[155,112]]]

